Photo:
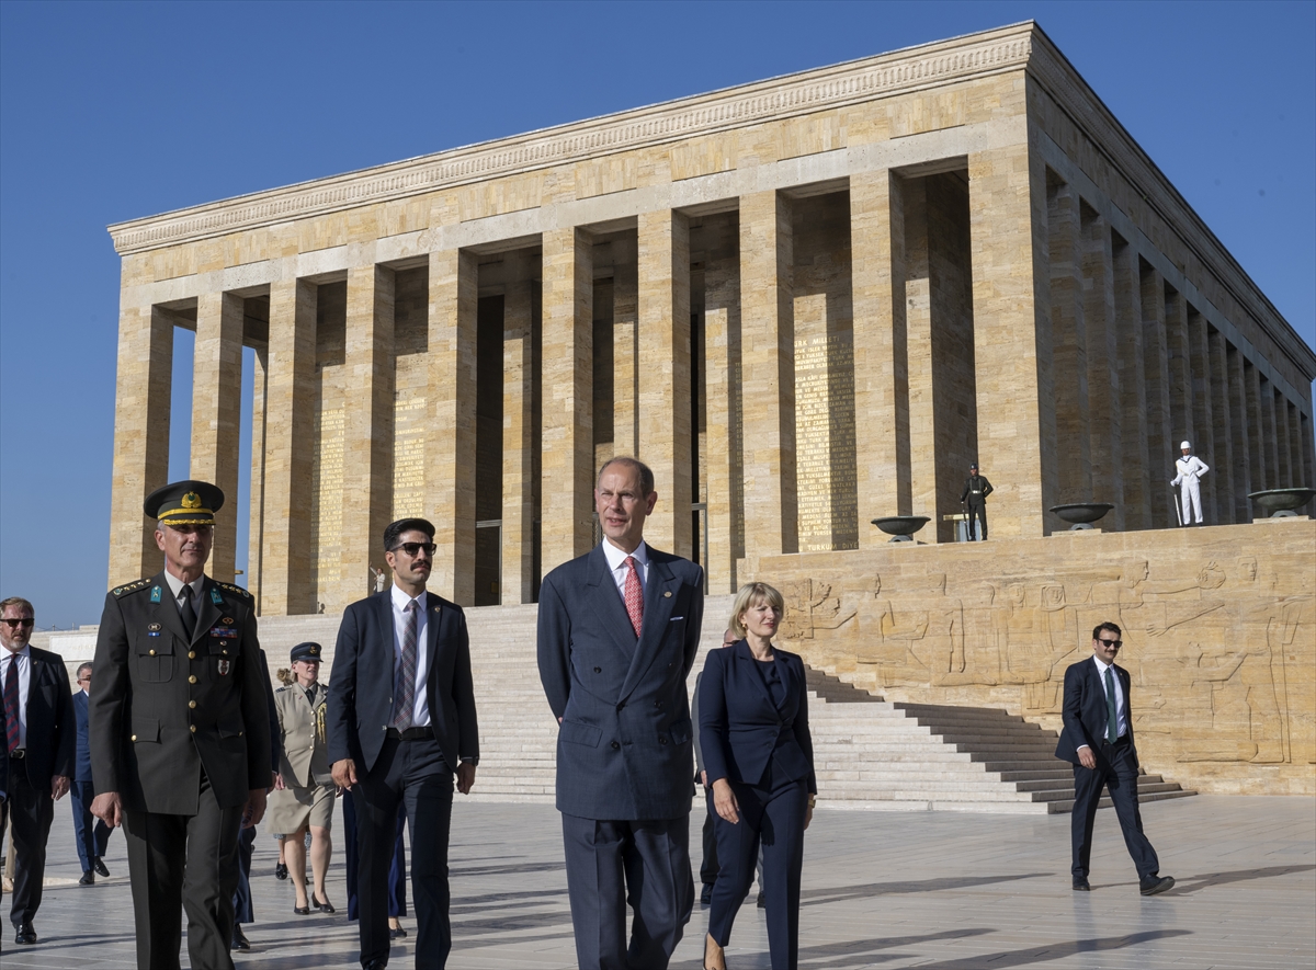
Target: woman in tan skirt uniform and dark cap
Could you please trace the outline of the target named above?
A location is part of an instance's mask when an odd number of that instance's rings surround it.
[[[333,800],[338,794],[329,773],[325,743],[325,701],[329,691],[320,683],[320,655],[317,643],[299,643],[292,648],[292,673],[296,682],[274,693],[274,706],[279,711],[282,757],[279,777],[266,820],[275,832],[283,832],[288,875],[297,894],[293,912],[334,912],[325,895],[325,875],[333,845],[329,829],[333,823]],[[315,896],[307,899],[307,828],[311,829],[311,869],[315,878]]]

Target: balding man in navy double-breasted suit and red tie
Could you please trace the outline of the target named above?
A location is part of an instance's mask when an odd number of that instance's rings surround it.
[[[587,970],[666,967],[694,908],[686,677],[704,576],[645,544],[657,501],[647,467],[604,464],[595,488],[604,540],[540,590],[540,680],[561,724],[557,804]]]

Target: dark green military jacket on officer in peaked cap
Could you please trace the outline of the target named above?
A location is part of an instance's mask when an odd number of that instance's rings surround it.
[[[270,786],[251,594],[207,576],[201,598],[188,636],[163,572],[105,597],[88,701],[92,782],[128,810],[195,815],[203,770],[225,808]]]

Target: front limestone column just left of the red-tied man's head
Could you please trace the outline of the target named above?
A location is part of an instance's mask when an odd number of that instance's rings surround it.
[[[592,344],[592,241],[574,226],[545,233],[541,573],[594,545]]]

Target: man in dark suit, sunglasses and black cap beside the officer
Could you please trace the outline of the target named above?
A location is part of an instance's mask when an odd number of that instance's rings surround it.
[[[416,966],[442,967],[449,925],[447,835],[453,782],[475,783],[480,741],[466,614],[425,591],[434,527],[400,519],[384,530],[393,585],[346,609],[326,707],[334,782],[355,799],[361,965],[388,965],[388,866],[397,803],[412,833]]]

